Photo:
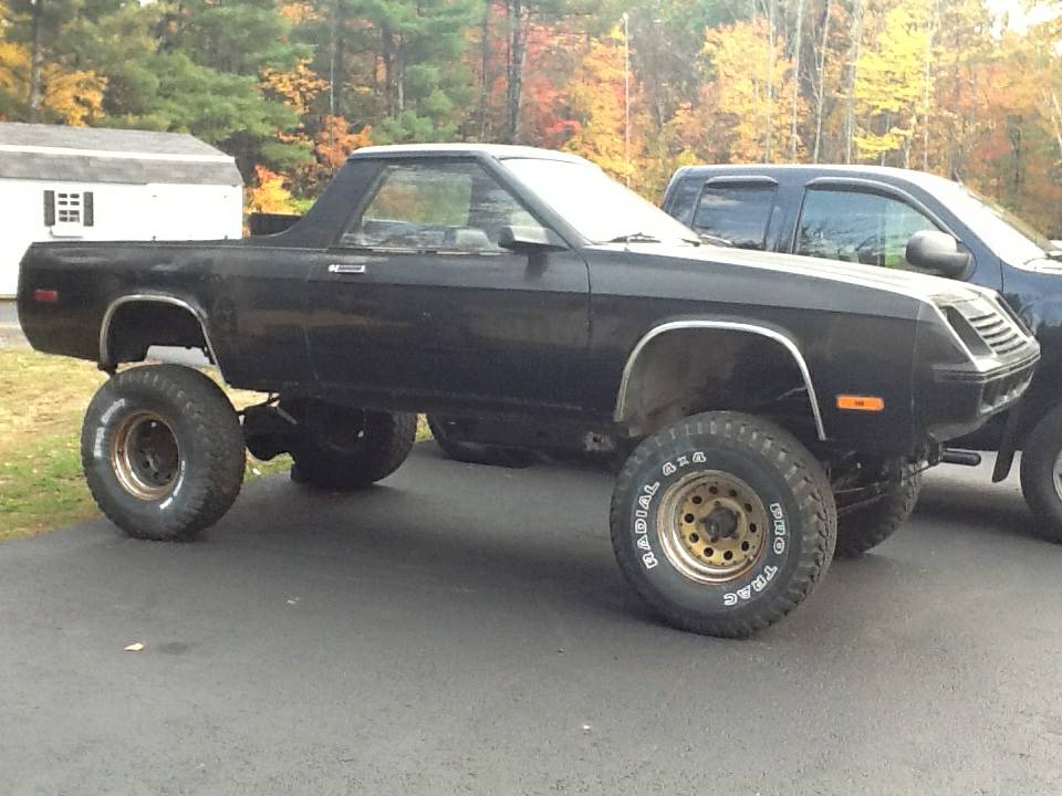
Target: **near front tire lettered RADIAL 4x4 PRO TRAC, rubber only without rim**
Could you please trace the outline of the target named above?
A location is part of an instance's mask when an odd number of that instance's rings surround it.
[[[720,473],[768,507],[767,535],[750,569],[702,583],[665,547],[665,509],[683,484]],[[612,545],[623,574],[665,620],[708,636],[750,636],[793,610],[825,574],[836,527],[833,492],[814,457],[779,426],[736,412],[695,415],[646,438],[612,496]]]

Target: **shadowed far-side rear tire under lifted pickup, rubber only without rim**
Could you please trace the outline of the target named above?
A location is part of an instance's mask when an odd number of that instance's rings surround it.
[[[333,492],[364,489],[391,475],[413,450],[417,416],[365,411],[363,434],[350,451],[336,451],[306,438],[293,450],[291,480]]]

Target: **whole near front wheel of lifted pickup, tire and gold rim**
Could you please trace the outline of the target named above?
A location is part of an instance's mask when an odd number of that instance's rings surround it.
[[[629,457],[612,499],[624,575],[670,624],[737,638],[780,620],[836,541],[821,465],[788,431],[736,412],[686,418]]]

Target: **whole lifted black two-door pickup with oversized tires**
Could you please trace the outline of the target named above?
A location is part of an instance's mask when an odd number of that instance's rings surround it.
[[[112,374],[82,458],[131,535],[216,522],[244,447],[290,452],[303,484],[366,486],[436,412],[490,443],[629,449],[621,568],[720,636],[788,614],[836,545],[887,534],[940,443],[1007,409],[1039,359],[992,291],[702,245],[580,158],[496,146],[358,150],[274,235],[34,244],[19,315],[35,348]],[[154,346],[201,348],[271,398],[238,415],[199,371],[119,367]]]

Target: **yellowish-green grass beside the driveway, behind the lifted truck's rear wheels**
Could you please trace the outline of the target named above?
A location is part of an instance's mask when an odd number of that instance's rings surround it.
[[[81,472],[81,418],[106,379],[92,363],[0,350],[0,540],[29,536],[97,514]],[[237,408],[260,394],[228,390]],[[417,440],[429,439],[420,419]],[[248,457],[249,480],[287,472],[287,455]]]

